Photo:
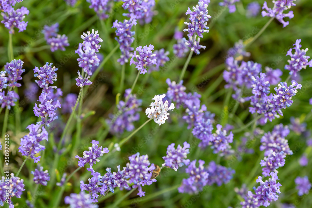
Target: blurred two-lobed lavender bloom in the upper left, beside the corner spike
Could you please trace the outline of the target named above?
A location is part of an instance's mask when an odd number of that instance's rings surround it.
[[[58,27],[59,23],[55,23],[51,26],[45,25],[42,30],[46,43],[51,46],[52,52],[56,50],[65,51],[65,46],[69,46],[67,36],[65,34],[57,34],[59,31]]]

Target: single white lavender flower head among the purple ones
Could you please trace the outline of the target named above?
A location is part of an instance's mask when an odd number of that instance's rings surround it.
[[[169,113],[168,110],[174,109],[174,104],[171,103],[170,107],[168,107],[169,102],[166,100],[164,103],[162,99],[166,96],[166,94],[158,94],[155,95],[155,97],[152,100],[155,100],[155,102],[152,102],[150,104],[150,108],[147,108],[145,111],[145,114],[149,119],[154,118],[155,123],[159,123],[159,126],[161,124],[164,124],[165,121],[168,119]]]

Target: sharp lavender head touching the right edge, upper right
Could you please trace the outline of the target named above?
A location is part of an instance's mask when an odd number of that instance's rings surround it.
[[[288,60],[289,65],[285,65],[285,69],[289,70],[289,74],[294,76],[297,76],[297,72],[305,69],[307,65],[312,67],[312,60],[309,61],[308,59],[310,58],[310,56],[306,55],[306,52],[309,49],[301,49],[300,42],[301,39],[296,40],[296,43],[294,44],[295,47],[289,49],[286,54],[286,56],[290,56],[290,60]],[[295,49],[294,54],[292,54],[291,52],[292,49]]]

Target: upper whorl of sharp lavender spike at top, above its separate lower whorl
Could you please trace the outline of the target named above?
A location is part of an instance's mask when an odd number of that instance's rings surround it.
[[[188,37],[192,37],[194,33],[196,33],[199,37],[202,37],[203,32],[209,32],[209,27],[206,25],[211,16],[208,14],[207,7],[207,4],[199,1],[196,7],[193,7],[194,12],[188,8],[186,15],[189,14],[191,16],[189,18],[191,22],[184,22],[184,24],[188,25],[188,29],[184,29],[185,32],[188,32]]]

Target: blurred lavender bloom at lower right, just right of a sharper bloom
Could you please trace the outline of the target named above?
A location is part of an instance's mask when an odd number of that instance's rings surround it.
[[[209,163],[206,168],[208,172],[208,185],[217,184],[221,186],[222,184],[227,184],[232,178],[235,170],[232,168],[227,168],[222,165],[217,165],[214,161]]]

